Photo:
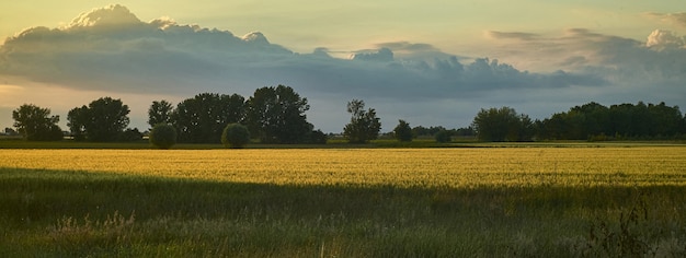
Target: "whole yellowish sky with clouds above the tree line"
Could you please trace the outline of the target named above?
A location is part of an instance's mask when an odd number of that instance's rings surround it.
[[[664,1],[5,1],[0,128],[22,104],[103,96],[148,129],[152,101],[291,86],[340,132],[346,103],[411,126],[481,108],[544,119],[590,102],[686,107],[686,4]],[[4,114],[4,115],[3,115]]]

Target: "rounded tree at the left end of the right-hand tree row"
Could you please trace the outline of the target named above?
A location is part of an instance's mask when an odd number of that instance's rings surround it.
[[[481,141],[525,141],[534,136],[534,122],[511,107],[481,109],[472,127]]]

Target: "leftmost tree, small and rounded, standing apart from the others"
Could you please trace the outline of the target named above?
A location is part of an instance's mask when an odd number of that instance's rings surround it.
[[[50,116],[50,109],[33,104],[21,105],[12,112],[14,127],[27,141],[58,141],[62,131],[57,126],[59,116]]]

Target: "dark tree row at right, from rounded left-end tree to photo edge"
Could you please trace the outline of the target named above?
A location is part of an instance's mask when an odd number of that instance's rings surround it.
[[[533,140],[670,140],[686,137],[686,117],[678,106],[591,102],[542,120],[514,108],[481,109],[472,122],[481,141]]]

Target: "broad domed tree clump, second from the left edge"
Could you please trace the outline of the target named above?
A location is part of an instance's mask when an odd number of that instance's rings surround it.
[[[121,99],[101,97],[91,102],[88,107],[69,110],[67,119],[75,138],[85,136],[89,141],[117,141],[128,126],[128,106]]]

